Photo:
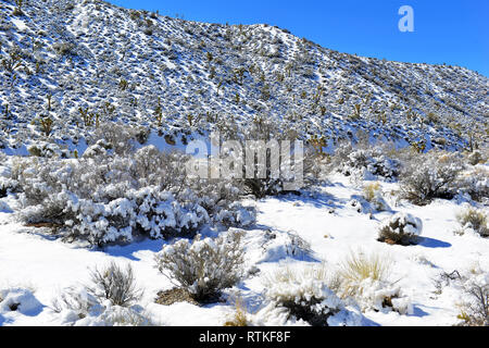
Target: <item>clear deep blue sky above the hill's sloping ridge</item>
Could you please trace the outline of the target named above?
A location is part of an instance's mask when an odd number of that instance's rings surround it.
[[[489,0],[110,0],[185,20],[266,23],[323,47],[403,62],[461,65],[489,76]],[[401,33],[401,5],[414,33]]]

